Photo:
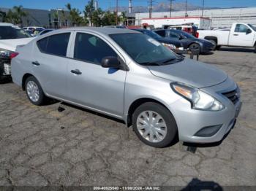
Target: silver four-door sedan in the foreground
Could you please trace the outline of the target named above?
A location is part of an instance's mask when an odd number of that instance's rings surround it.
[[[12,79],[32,104],[47,98],[124,120],[141,141],[220,141],[241,108],[224,71],[176,55],[151,37],[119,28],[67,28],[16,50]]]

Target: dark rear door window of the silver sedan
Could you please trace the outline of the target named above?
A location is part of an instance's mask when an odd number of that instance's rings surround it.
[[[41,52],[50,55],[66,56],[69,36],[70,33],[54,34],[37,41],[37,46]]]

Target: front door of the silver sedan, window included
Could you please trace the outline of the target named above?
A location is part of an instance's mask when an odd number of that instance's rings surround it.
[[[67,71],[69,100],[121,117],[127,71],[101,66],[102,58],[121,55],[109,42],[94,34],[78,31],[73,41],[73,59],[69,60]]]

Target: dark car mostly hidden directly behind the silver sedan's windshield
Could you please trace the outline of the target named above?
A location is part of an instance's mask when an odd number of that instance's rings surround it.
[[[178,54],[187,53],[186,51],[184,51],[183,44],[179,40],[176,40],[176,39],[171,40],[171,39],[163,38],[159,34],[156,34],[154,31],[149,31],[147,29],[132,29],[132,30],[139,31],[143,34],[151,36],[151,38],[157,40],[158,42],[161,42],[165,47],[170,48],[170,50],[173,50]]]

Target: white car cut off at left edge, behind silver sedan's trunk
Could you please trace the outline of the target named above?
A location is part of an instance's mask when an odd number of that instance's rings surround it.
[[[31,41],[31,35],[11,23],[0,23],[0,80],[10,79],[10,60],[18,45]]]

